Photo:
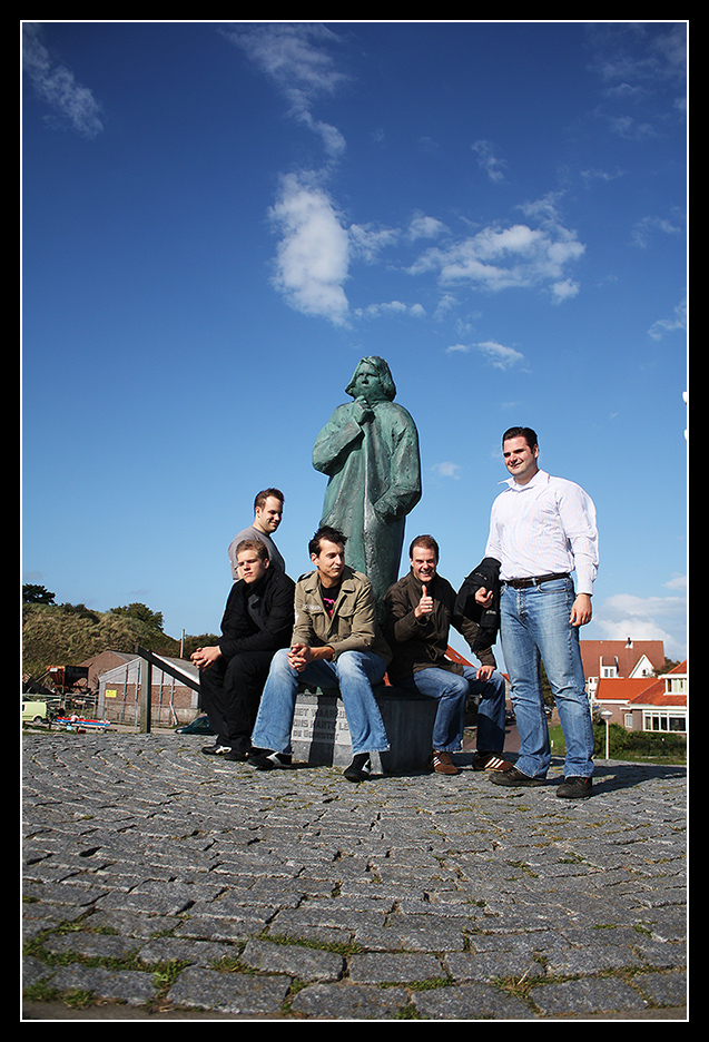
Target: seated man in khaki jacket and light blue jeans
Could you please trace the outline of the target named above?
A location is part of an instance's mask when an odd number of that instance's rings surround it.
[[[252,735],[248,763],[260,770],[291,764],[301,682],[339,687],[352,736],[353,760],[345,770],[349,782],[366,779],[370,754],[388,749],[372,685],[384,679],[391,651],[376,623],[370,580],[345,564],[345,542],[327,527],[311,540],[315,570],[296,583],[291,648],[274,657]]]

